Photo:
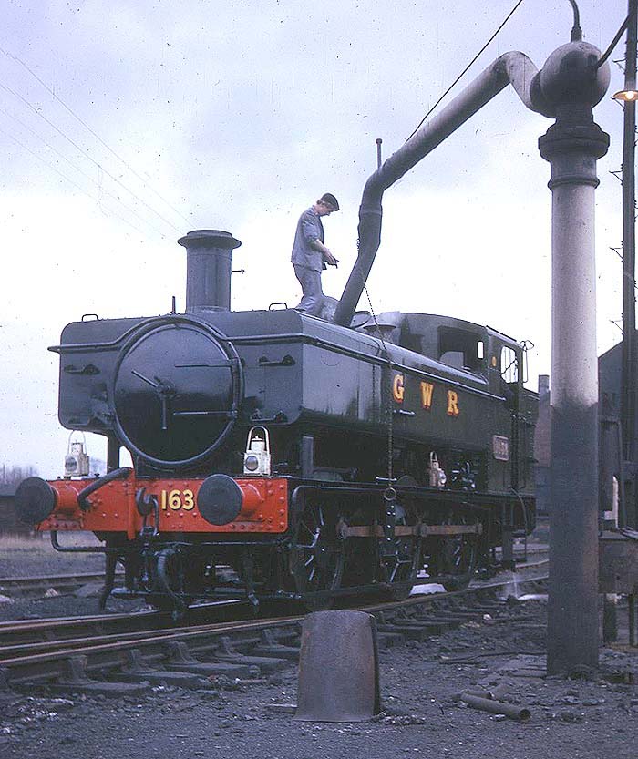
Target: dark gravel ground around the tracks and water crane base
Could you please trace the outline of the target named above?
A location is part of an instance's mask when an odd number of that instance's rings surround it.
[[[96,557],[34,549],[4,553],[0,575],[99,569]],[[3,546],[0,543],[0,549]],[[31,559],[29,559],[31,556]],[[59,558],[58,558],[59,557]],[[58,563],[65,559],[64,568]],[[72,563],[67,563],[71,559]],[[76,564],[83,559],[84,564]],[[11,567],[7,571],[5,567]],[[96,600],[57,598],[5,604],[12,616],[93,612]],[[86,607],[86,608],[85,608]],[[112,608],[115,610],[117,605]],[[5,609],[0,606],[0,612]],[[54,692],[0,691],[3,759],[191,759],[262,756],[267,759],[424,756],[432,759],[625,759],[636,754],[638,650],[602,649],[592,680],[538,676],[544,668],[542,600],[512,604],[530,616],[524,629],[468,622],[427,641],[380,652],[383,712],[365,723],[303,723],[274,712],[273,703],[296,700],[296,666],[265,680],[211,680],[201,690],[159,685],[136,697],[106,698]],[[534,623],[536,623],[534,625]],[[625,622],[626,623],[626,622]],[[626,636],[626,630],[622,632]],[[509,651],[501,656],[488,655]],[[516,652],[520,652],[517,654]],[[532,656],[530,651],[540,651]],[[467,663],[446,657],[467,652]],[[524,653],[523,653],[524,652]],[[479,712],[458,700],[465,690],[492,690],[530,709],[529,723]]]

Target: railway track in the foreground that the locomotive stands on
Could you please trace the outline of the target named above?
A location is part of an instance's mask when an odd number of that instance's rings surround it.
[[[537,563],[519,573],[519,588],[542,582],[542,568]],[[389,646],[483,621],[486,614],[490,621],[498,619],[508,607],[497,595],[511,584],[512,578],[506,577],[468,590],[358,609],[376,616],[379,643]],[[246,606],[236,602],[193,611],[185,627],[167,626],[169,615],[162,612],[0,624],[0,687],[41,682],[66,691],[115,695],[160,682],[206,688],[221,675],[254,677],[298,656],[302,614],[245,619]],[[215,621],[197,619],[212,614]]]

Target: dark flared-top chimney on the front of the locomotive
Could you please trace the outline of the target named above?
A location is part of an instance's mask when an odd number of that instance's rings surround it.
[[[232,251],[242,243],[221,230],[190,231],[178,243],[186,248],[186,313],[230,311]]]

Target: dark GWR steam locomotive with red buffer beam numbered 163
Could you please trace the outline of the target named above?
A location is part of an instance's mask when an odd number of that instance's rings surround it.
[[[103,600],[118,562],[126,592],[175,610],[400,597],[419,573],[458,588],[532,530],[537,396],[520,344],[426,313],[344,326],[232,312],[239,241],[180,244],[186,313],[83,319],[51,349],[60,422],[108,438],[108,474],[32,477],[16,494],[57,549],[66,530],[103,541]]]

